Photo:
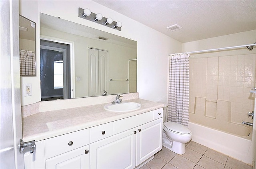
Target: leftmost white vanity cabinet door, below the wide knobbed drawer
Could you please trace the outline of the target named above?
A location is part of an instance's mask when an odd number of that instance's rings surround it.
[[[89,147],[86,145],[47,159],[46,169],[90,169]]]

